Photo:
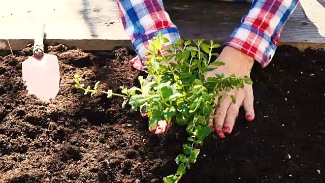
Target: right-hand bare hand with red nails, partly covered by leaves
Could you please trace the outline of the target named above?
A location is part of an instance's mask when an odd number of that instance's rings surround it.
[[[224,76],[230,76],[235,74],[236,76],[248,76],[250,77],[250,70],[254,64],[254,59],[240,50],[233,47],[226,46],[216,61],[225,63],[224,66],[220,66],[214,71],[208,72],[207,77],[215,77],[215,73],[224,74]],[[236,118],[238,116],[239,108],[244,106],[246,119],[252,121],[255,117],[253,108],[253,88],[252,85],[245,84],[242,89],[235,89],[232,91],[232,95],[236,98],[236,103],[232,103],[232,99],[226,92],[222,92],[223,96],[220,107],[216,109],[213,114],[217,114],[219,117],[211,121],[210,126],[218,134],[220,138],[224,138],[225,134],[230,134],[234,128]],[[216,98],[216,100],[218,100]]]

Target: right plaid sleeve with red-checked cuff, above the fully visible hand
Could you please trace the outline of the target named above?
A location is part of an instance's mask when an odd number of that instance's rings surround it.
[[[298,2],[299,0],[254,0],[248,14],[242,18],[224,46],[241,50],[265,68],[279,44],[284,23]]]

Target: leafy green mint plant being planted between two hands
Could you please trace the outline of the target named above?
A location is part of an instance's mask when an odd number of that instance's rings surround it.
[[[147,50],[149,61],[146,62],[145,68],[154,80],[144,84],[145,79],[139,76],[140,87],[128,89],[120,86],[121,95],[114,94],[110,89],[107,92],[98,90],[99,81],[93,89],[90,86],[85,88],[79,75],[74,75],[74,81],[75,87],[83,89],[85,95],[90,93],[93,97],[96,93],[104,93],[108,98],[122,97],[124,99],[122,106],[129,104],[131,111],[136,111],[142,106],[141,113],[148,114],[151,129],[161,119],[166,120],[168,125],[176,123],[186,128],[189,134],[188,143],[183,144],[183,153],[175,160],[178,165],[177,172],[164,177],[165,183],[175,183],[179,182],[186,170],[197,161],[199,147],[212,131],[209,121],[218,117],[211,113],[220,107],[222,100],[220,92],[222,90],[228,92],[235,103],[235,97],[230,94],[231,90],[243,88],[245,83],[252,84],[252,81],[248,76],[225,77],[222,73],[205,78],[207,72],[224,65],[223,62],[211,62],[213,56],[218,56],[217,53],[212,53],[212,49],[220,47],[213,41],[208,45],[203,39],[199,39],[193,41],[196,46],[190,46],[191,41],[179,40],[163,50],[163,44],[168,42],[170,41],[161,34],[149,41],[150,46]],[[160,54],[165,52],[171,54]],[[216,98],[218,100],[215,100]]]

